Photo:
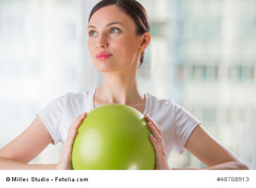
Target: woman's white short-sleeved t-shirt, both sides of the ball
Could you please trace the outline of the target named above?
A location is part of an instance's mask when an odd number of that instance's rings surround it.
[[[94,109],[95,90],[92,88],[78,94],[67,93],[38,112],[55,144],[65,142],[69,126],[79,115]],[[148,114],[160,125],[166,144],[166,155],[169,156],[173,149],[183,153],[183,146],[189,135],[201,122],[172,100],[160,100],[151,94],[145,96],[144,114]]]

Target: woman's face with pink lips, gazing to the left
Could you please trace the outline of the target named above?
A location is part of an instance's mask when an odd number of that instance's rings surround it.
[[[102,72],[137,67],[142,36],[136,24],[116,5],[98,9],[88,25],[88,48],[96,69]]]

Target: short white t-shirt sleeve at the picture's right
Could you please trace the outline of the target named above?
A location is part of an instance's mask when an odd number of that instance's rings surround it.
[[[180,105],[174,104],[174,113],[176,121],[176,149],[179,153],[183,153],[186,151],[184,145],[189,139],[190,134],[198,124],[201,124],[201,122]]]

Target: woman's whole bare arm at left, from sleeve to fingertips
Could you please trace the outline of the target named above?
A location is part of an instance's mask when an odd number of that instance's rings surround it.
[[[37,117],[15,140],[0,150],[0,169],[72,169],[71,151],[81,122],[86,112],[71,124],[68,129],[67,140],[63,145],[61,161],[57,164],[28,164],[34,157],[53,142],[44,122]]]

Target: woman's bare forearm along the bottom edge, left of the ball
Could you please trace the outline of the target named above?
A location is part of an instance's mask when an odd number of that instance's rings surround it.
[[[56,164],[27,164],[9,158],[0,157],[1,170],[55,170]]]

